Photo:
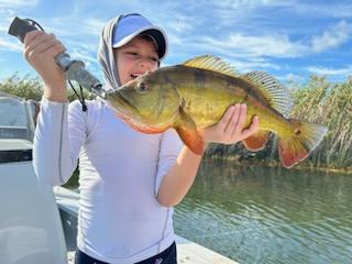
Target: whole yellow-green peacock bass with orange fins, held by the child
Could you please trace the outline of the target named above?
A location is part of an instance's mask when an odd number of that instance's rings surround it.
[[[263,72],[244,75],[213,56],[198,56],[182,65],[147,73],[106,95],[106,100],[133,129],[160,133],[174,128],[196,154],[204,151],[199,129],[217,124],[234,103],[246,103],[246,124],[260,118],[260,130],[243,140],[249,151],[262,150],[271,132],[278,135],[282,164],[305,160],[327,128],[289,119],[293,102],[285,87]]]

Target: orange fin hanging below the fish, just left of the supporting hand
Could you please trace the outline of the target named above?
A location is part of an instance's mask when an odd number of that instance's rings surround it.
[[[204,153],[204,141],[197,131],[196,124],[182,108],[179,110],[179,119],[175,124],[175,130],[191,152],[198,155]]]

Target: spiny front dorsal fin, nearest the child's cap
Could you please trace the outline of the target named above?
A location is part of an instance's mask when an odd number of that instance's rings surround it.
[[[229,63],[226,63],[221,58],[211,55],[201,55],[194,57],[185,62],[183,65],[194,68],[218,72],[220,74],[233,77],[240,76],[240,74],[238,74]]]

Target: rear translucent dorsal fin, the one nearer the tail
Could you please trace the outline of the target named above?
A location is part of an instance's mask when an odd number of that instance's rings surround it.
[[[292,96],[288,89],[282,86],[274,77],[260,70],[248,73],[243,75],[243,77],[263,92],[272,108],[284,117],[288,117],[290,114],[294,106]]]

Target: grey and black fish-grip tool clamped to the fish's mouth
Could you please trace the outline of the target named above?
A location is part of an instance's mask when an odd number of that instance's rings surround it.
[[[34,30],[44,31],[43,28],[34,20],[19,19],[15,16],[8,33],[16,36],[23,43],[26,33]],[[55,57],[55,62],[63,69],[68,80],[77,81],[79,85],[101,98],[106,97],[101,82],[85,68],[84,62],[77,59],[72,61],[67,53],[58,54]]]

